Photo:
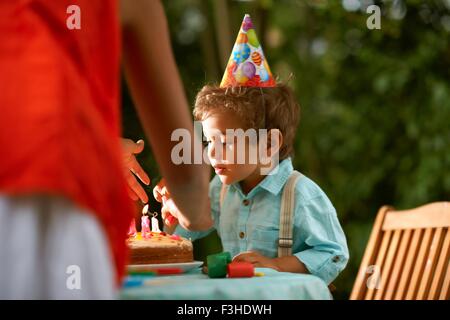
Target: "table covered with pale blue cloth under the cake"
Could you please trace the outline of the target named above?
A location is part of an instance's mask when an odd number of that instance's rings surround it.
[[[124,288],[121,299],[144,300],[330,300],[327,285],[310,274],[256,268],[262,277],[211,279],[195,269],[182,275],[149,277]]]

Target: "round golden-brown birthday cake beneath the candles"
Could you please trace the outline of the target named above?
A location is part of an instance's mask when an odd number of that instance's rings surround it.
[[[129,237],[130,264],[161,264],[192,262],[192,242],[177,235],[150,232],[144,238],[141,232]]]

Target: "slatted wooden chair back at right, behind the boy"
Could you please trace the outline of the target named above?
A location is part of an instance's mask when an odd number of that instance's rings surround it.
[[[450,202],[382,207],[351,300],[449,300]]]

